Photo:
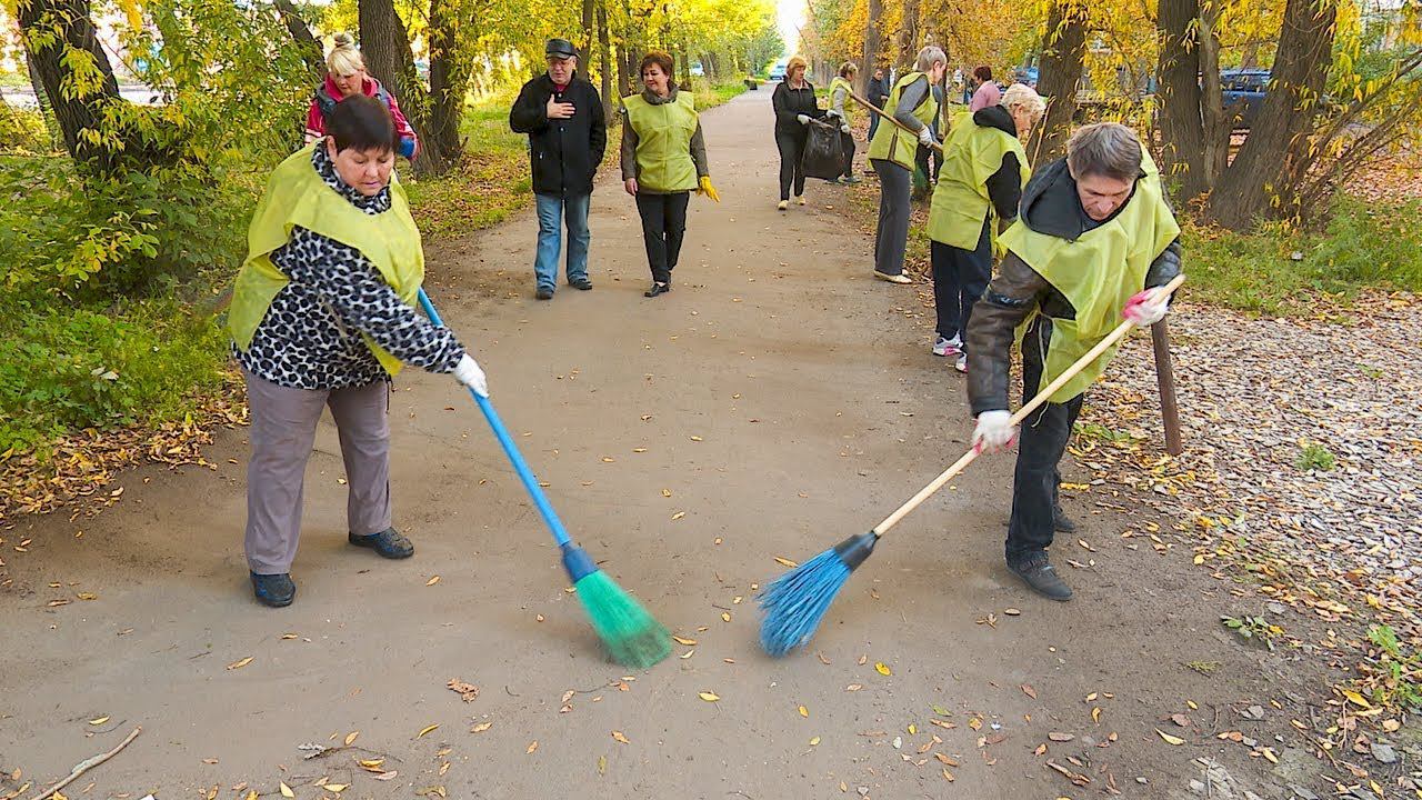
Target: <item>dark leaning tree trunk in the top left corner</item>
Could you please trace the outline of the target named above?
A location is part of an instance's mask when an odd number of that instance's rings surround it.
[[[95,145],[82,135],[85,131],[105,132],[105,108],[124,102],[118,94],[114,68],[98,43],[94,20],[90,19],[88,0],[21,0],[18,11],[26,57],[30,68],[40,75],[44,94],[50,98],[54,120],[64,138],[64,149],[82,165],[100,172],[112,171],[118,165],[117,148]],[[44,36],[50,30],[58,33],[57,41],[36,48],[31,36]],[[92,58],[92,68],[98,73],[98,88],[84,97],[75,97],[74,91],[65,93],[63,88],[75,83],[70,65],[71,51],[84,60]]]

